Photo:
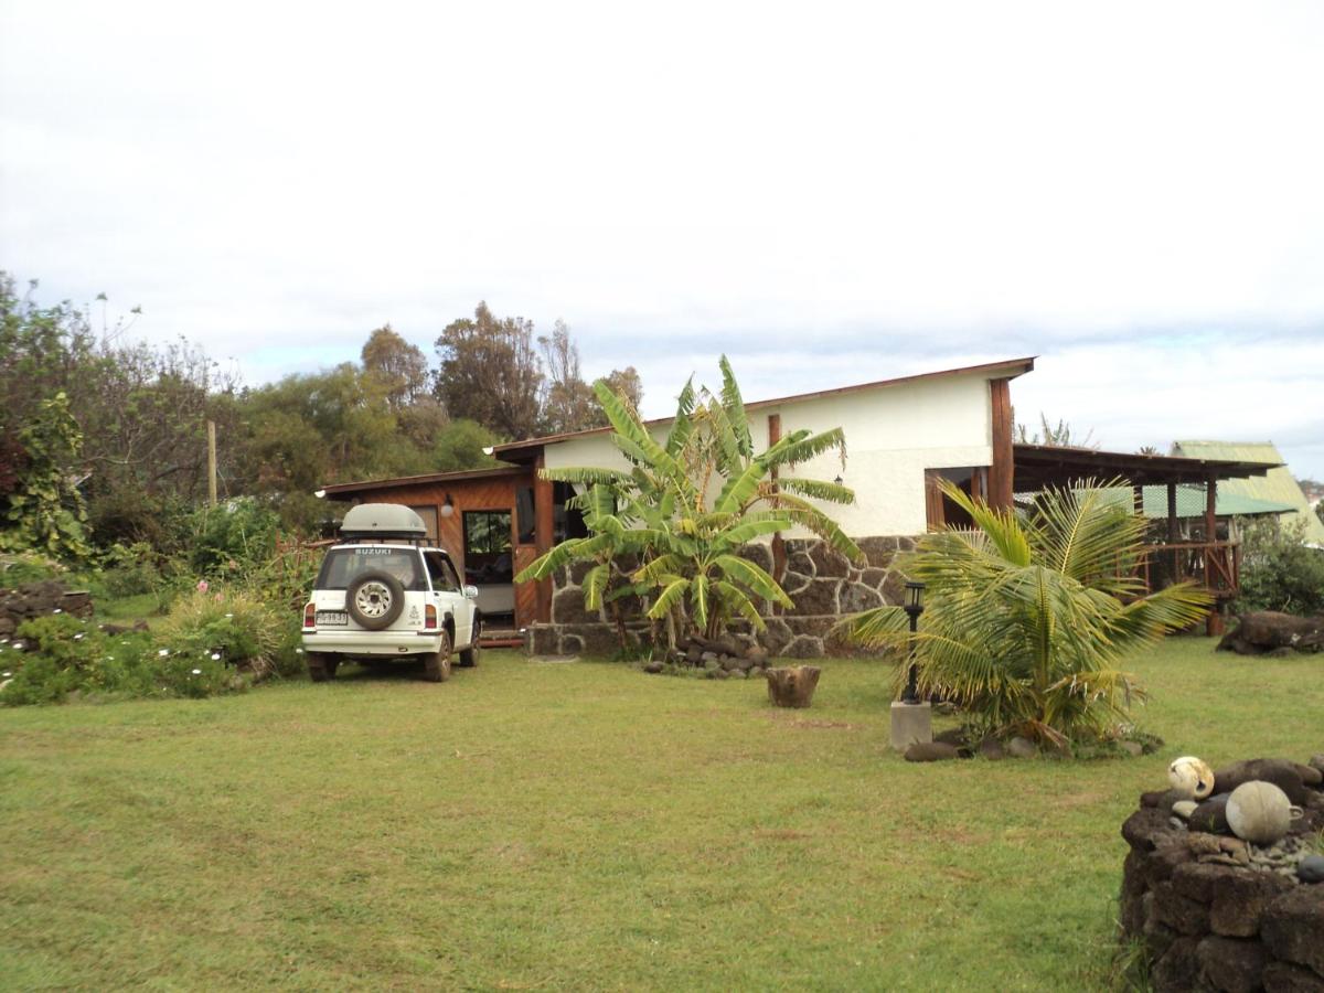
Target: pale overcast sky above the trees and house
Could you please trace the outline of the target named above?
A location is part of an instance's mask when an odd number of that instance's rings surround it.
[[[0,267],[249,383],[486,299],[649,414],[1038,355],[1324,478],[1324,4],[0,0]]]

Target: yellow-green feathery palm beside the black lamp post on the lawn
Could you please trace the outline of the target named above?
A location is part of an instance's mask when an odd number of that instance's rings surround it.
[[[1200,620],[1211,600],[1189,583],[1145,592],[1133,573],[1145,522],[1108,498],[1116,485],[1047,491],[1021,512],[944,486],[974,528],[925,535],[902,563],[927,587],[915,643],[923,692],[964,707],[984,733],[1054,747],[1106,737],[1127,719],[1144,691],[1117,666]],[[875,647],[910,638],[899,608],[842,626]]]

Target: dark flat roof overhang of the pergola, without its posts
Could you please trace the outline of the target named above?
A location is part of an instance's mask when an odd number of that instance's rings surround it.
[[[1080,479],[1103,482],[1123,478],[1133,486],[1207,483],[1264,475],[1280,465],[1221,458],[1139,455],[1129,451],[1096,451],[1053,445],[1013,445],[1012,458],[1016,466],[1013,486],[1017,493],[1067,486]]]

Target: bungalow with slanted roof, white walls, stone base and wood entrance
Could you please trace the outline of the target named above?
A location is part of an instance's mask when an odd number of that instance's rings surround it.
[[[1018,489],[1124,475],[1136,482],[1210,483],[1263,474],[1270,466],[1170,457],[1124,455],[1013,444],[1010,384],[1034,359],[945,369],[745,405],[755,438],[777,441],[785,430],[839,426],[849,459],[822,455],[797,467],[809,478],[841,478],[855,490],[849,507],[830,507],[867,556],[855,565],[809,532],[788,532],[751,548],[781,579],[794,608],[768,618],[779,654],[814,657],[839,646],[830,629],[842,614],[899,602],[904,577],[892,567],[915,535],[960,523],[939,481],[994,506],[1009,507]],[[670,418],[650,421],[658,437]],[[422,516],[433,539],[451,552],[465,581],[479,589],[489,643],[526,643],[536,651],[610,651],[614,628],[584,610],[581,571],[534,583],[514,577],[565,538],[584,534],[567,506],[571,486],[542,469],[621,466],[608,429],[553,434],[498,445],[498,469],[339,483],[335,499],[402,503]],[[1158,463],[1162,465],[1158,465]],[[1022,465],[1023,463],[1023,465]],[[1210,504],[1210,514],[1213,506]],[[1210,528],[1210,534],[1213,528]]]

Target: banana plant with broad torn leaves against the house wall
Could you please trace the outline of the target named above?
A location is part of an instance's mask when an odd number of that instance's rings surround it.
[[[690,628],[716,637],[735,617],[761,630],[760,602],[792,605],[773,576],[740,555],[747,543],[761,536],[801,526],[847,557],[862,557],[855,543],[812,503],[851,503],[851,490],[816,479],[777,478],[779,470],[825,451],[837,450],[845,459],[841,429],[790,432],[756,453],[726,356],[720,368],[719,393],[696,391],[692,380],[686,383],[662,442],[604,381],[594,384],[612,424],[612,441],[629,467],[543,470],[545,478],[587,487],[576,500],[589,535],[560,543],[516,581],[543,579],[572,561],[591,561],[583,584],[588,609],[596,610],[604,597],[647,593],[647,616],[666,620],[674,641]],[[622,560],[632,563],[628,572]],[[613,577],[626,581],[612,588]]]

